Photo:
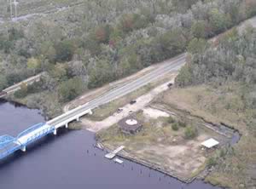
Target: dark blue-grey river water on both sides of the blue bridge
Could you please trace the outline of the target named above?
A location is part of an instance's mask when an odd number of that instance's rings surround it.
[[[0,101],[0,135],[18,135],[44,122],[40,111]],[[2,189],[218,189],[201,180],[190,184],[125,160],[123,165],[104,158],[89,131],[58,130],[16,152],[0,163]]]

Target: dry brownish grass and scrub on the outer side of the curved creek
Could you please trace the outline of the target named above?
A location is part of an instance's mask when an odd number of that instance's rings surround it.
[[[243,89],[240,83],[228,83],[211,87],[200,85],[186,89],[172,89],[162,94],[156,101],[176,110],[190,112],[212,123],[225,123],[238,129],[241,140],[230,147],[229,151],[220,152],[214,164],[214,171],[207,176],[207,181],[214,185],[237,188],[253,186],[255,176],[250,169],[255,162],[255,110],[242,105]],[[191,125],[189,123],[189,125]],[[210,161],[210,162],[209,162]],[[211,160],[208,160],[211,163]]]

